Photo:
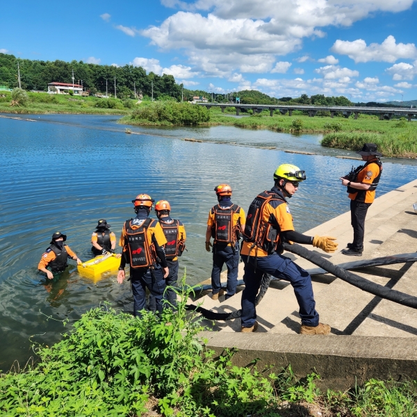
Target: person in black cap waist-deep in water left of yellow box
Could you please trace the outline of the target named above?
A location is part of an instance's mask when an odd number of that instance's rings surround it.
[[[56,231],[52,235],[51,245],[40,258],[38,270],[44,272],[49,279],[53,279],[54,274],[65,271],[68,266],[68,256],[74,259],[77,265],[82,263],[75,252],[69,246],[64,245],[65,240],[67,240],[67,235]]]

